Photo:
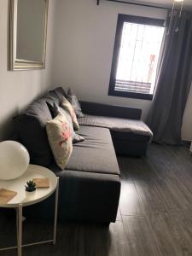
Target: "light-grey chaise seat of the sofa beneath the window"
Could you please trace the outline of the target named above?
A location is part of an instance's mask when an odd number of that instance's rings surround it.
[[[120,119],[86,114],[84,118],[79,118],[79,125],[104,127],[110,129],[110,131],[129,132],[132,134],[153,137],[152,131],[142,120]]]

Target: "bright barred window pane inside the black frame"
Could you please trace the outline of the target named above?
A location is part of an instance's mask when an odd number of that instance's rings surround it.
[[[124,22],[114,90],[154,93],[164,30],[162,26]]]

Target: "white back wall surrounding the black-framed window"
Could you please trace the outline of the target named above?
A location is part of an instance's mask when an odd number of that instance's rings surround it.
[[[72,86],[82,100],[143,109],[150,101],[108,96],[118,14],[166,18],[166,11],[96,0],[57,0],[54,84]]]

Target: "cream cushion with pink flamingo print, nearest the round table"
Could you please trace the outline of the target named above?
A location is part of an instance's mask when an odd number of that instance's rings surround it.
[[[55,162],[62,170],[73,151],[72,130],[66,116],[59,113],[55,119],[48,121],[46,131]]]

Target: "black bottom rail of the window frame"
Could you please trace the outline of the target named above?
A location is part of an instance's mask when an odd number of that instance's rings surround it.
[[[147,100],[152,101],[153,95],[152,94],[143,94],[143,93],[137,93],[137,92],[126,92],[126,91],[108,91],[108,96],[119,96],[119,97],[125,97],[125,98],[133,98],[133,99],[140,99],[140,100]]]

